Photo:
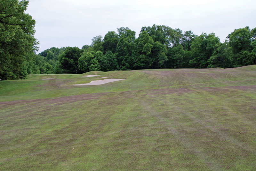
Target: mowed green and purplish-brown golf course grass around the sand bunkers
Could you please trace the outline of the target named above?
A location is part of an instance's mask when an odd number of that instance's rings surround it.
[[[71,86],[108,76],[127,79]],[[0,170],[256,168],[255,65],[30,75],[0,87]]]

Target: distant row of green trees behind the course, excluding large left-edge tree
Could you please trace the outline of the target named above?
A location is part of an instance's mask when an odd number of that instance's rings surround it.
[[[91,45],[49,48],[37,55],[41,74],[159,68],[230,68],[256,64],[256,28],[235,29],[221,43],[214,33],[197,36],[169,26],[128,27],[99,35]],[[39,73],[38,72],[38,73]]]

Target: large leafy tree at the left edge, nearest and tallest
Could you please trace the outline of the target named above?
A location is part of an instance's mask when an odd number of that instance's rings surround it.
[[[27,0],[0,1],[0,79],[24,79],[34,58],[36,21],[25,13]]]

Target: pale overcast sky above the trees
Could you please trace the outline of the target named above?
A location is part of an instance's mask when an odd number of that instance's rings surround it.
[[[224,41],[236,28],[256,27],[256,0],[30,0],[39,52],[51,47],[90,45],[96,35],[129,27],[166,25]]]

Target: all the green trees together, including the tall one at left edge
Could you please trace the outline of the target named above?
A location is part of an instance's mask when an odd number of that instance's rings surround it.
[[[0,79],[28,74],[159,68],[230,68],[256,64],[256,28],[235,29],[225,42],[214,33],[195,35],[165,25],[128,27],[92,38],[91,45],[49,48],[36,55],[35,20],[28,1],[0,1]]]

